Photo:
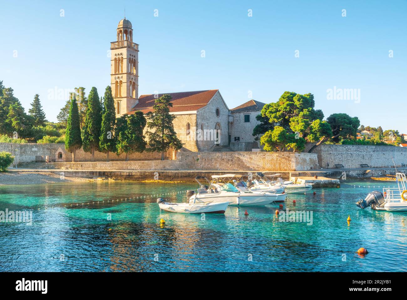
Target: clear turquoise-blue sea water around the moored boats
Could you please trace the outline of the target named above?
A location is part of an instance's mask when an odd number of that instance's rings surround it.
[[[312,225],[280,222],[277,205],[204,220],[160,212],[156,195],[197,188],[189,183],[1,186],[0,211],[32,210],[33,223],[0,223],[0,271],[407,271],[407,213],[360,210],[383,182],[353,184],[289,194],[283,210],[312,211]]]

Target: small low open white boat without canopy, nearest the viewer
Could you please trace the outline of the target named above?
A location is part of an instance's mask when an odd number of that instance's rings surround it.
[[[224,214],[229,202],[204,202],[204,203],[172,203],[164,199],[157,199],[160,210],[179,212],[182,214]]]

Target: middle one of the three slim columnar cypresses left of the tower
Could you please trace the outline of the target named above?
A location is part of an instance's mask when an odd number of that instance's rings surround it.
[[[99,136],[101,133],[101,105],[98,91],[92,87],[88,96],[88,108],[85,118],[85,134],[83,136],[83,150],[92,153],[92,161],[95,161],[95,151],[99,150]]]

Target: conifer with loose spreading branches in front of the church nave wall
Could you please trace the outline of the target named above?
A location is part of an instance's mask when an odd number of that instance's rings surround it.
[[[170,114],[171,95],[162,95],[155,99],[153,111],[146,114],[149,119],[147,127],[154,131],[147,132],[150,148],[149,152],[161,152],[161,160],[164,160],[164,152],[170,147],[179,150],[184,145],[174,130],[173,120],[176,116]]]

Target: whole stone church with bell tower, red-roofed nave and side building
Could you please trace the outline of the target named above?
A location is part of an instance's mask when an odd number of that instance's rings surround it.
[[[137,110],[153,110],[155,99],[169,94],[176,115],[173,121],[177,137],[184,143],[180,151],[252,151],[259,143],[252,136],[265,105],[250,100],[229,109],[219,90],[138,95],[139,45],[133,42],[131,22],[124,18],[117,26],[117,40],[110,43],[111,86],[116,117]],[[147,128],[145,129],[147,130]]]

